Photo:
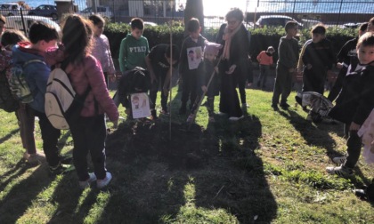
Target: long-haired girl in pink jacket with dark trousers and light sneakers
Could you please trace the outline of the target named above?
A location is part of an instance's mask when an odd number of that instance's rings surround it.
[[[75,36],[76,38],[72,38]],[[96,181],[97,188],[106,187],[111,173],[105,167],[105,140],[107,128],[104,113],[115,126],[118,124],[118,109],[111,100],[105,84],[100,62],[90,54],[93,24],[78,15],[69,15],[62,27],[62,46],[50,50],[48,62],[61,63],[69,74],[70,82],[77,94],[84,94],[84,108],[79,122],[69,124],[74,140],[73,162],[76,167],[80,188],[87,188]],[[93,171],[87,171],[87,154],[91,154]]]

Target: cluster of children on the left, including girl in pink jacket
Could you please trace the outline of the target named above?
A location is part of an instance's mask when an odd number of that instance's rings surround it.
[[[5,18],[0,16],[1,31],[5,23]],[[16,110],[22,145],[26,148],[24,158],[29,164],[46,160],[52,174],[69,170],[69,166],[62,164],[63,158],[57,146],[61,130],[55,129],[45,115],[45,92],[51,69],[63,68],[77,94],[82,95],[89,90],[82,102],[82,110],[77,111],[79,123],[69,124],[74,140],[73,164],[80,188],[86,188],[93,182],[96,182],[97,188],[104,188],[111,180],[111,173],[105,167],[107,128],[104,113],[117,125],[118,109],[110,98],[102,70],[110,74],[114,71],[108,39],[102,36],[104,23],[100,16],[86,20],[78,15],[69,15],[62,24],[62,36],[44,22],[33,23],[28,38],[19,30],[1,32],[2,72],[11,78],[14,76],[12,69],[20,66],[32,95],[28,103],[20,103]],[[94,43],[93,38],[96,40]],[[99,53],[97,58],[101,61],[92,56],[92,49]],[[37,152],[35,144],[36,118],[44,153]],[[88,153],[93,161],[94,172],[91,173],[87,172]]]

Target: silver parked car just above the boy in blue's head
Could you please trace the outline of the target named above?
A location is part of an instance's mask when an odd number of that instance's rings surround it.
[[[58,32],[61,31],[61,28],[59,24],[54,22],[53,20],[43,17],[43,16],[35,16],[35,15],[24,15],[23,16],[23,22],[25,24],[26,30],[23,28],[22,25],[22,19],[20,16],[8,16],[6,18],[6,24],[5,28],[7,29],[20,29],[21,31],[26,31],[28,33],[28,29],[31,27],[31,25],[36,21],[43,21],[47,24],[50,24],[53,26],[53,28],[56,28]]]

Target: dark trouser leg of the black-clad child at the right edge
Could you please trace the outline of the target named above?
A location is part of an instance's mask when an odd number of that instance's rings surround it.
[[[360,158],[362,139],[357,135],[357,131],[349,131],[348,140],[346,140],[346,162],[344,166],[354,169],[354,165]]]

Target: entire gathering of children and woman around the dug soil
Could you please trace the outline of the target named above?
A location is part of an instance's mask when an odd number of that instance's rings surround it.
[[[128,71],[145,68],[150,79],[150,115],[156,119],[156,98],[161,90],[161,114],[167,115],[167,96],[170,90],[172,68],[179,66],[180,78],[183,80],[183,92],[179,114],[189,111],[187,121],[196,116],[201,96],[207,96],[207,111],[210,122],[215,121],[214,100],[220,94],[219,112],[232,121],[243,117],[240,99],[236,88],[243,86],[243,76],[248,76],[248,30],[243,26],[243,13],[232,9],[226,15],[227,24],[223,26],[222,41],[210,43],[200,35],[199,20],[192,18],[187,23],[189,36],[183,40],[181,51],[170,44],[158,44],[151,49],[148,40],[142,36],[144,24],[142,19],[131,20],[131,33],[120,44],[119,66],[123,76]],[[20,103],[16,115],[20,122],[20,136],[26,148],[24,158],[30,163],[38,163],[46,158],[51,172],[63,171],[61,155],[57,141],[61,132],[53,128],[45,116],[45,89],[51,67],[61,67],[69,74],[69,79],[78,94],[87,89],[84,108],[80,111],[79,124],[70,124],[74,140],[73,162],[77,171],[79,186],[89,187],[96,181],[98,188],[108,185],[111,173],[105,168],[106,124],[104,114],[117,125],[119,100],[112,100],[108,92],[110,77],[115,77],[115,68],[110,55],[110,44],[102,35],[105,20],[93,15],[89,20],[77,15],[69,15],[62,25],[61,44],[57,31],[43,22],[36,22],[29,29],[29,40],[20,31],[3,32],[6,20],[0,17],[0,34],[2,34],[1,70],[11,72],[12,65],[23,66],[26,81],[33,95],[29,103]],[[352,72],[359,76],[360,92],[354,97],[337,100],[337,109],[352,113],[347,116],[347,156],[338,158],[339,167],[328,167],[327,172],[339,176],[350,175],[360,156],[362,139],[359,129],[374,108],[374,18],[360,29],[359,37],[347,43],[339,53],[338,61],[332,51],[331,43],[325,38],[326,28],[315,26],[312,39],[305,43],[301,53],[297,44],[298,24],[289,21],[286,36],[280,38],[278,47],[279,60],[276,67],[276,78],[272,95],[272,108],[288,109],[288,97],[292,80],[302,60],[303,92],[323,94],[324,84],[335,64],[341,68],[334,92],[329,100],[335,100],[337,92],[350,88],[346,82]],[[94,40],[94,42],[93,42]],[[257,56],[261,75],[257,86],[264,87],[269,66],[272,65],[272,46]],[[356,54],[354,54],[357,52]],[[301,54],[301,55],[300,55]],[[342,56],[343,55],[343,56]],[[28,63],[30,60],[37,62]],[[338,62],[338,63],[337,63]],[[131,92],[121,92],[129,94]],[[240,92],[241,93],[241,92]],[[240,94],[241,95],[241,94]],[[119,96],[120,98],[123,96]],[[245,99],[245,97],[244,97]],[[339,99],[339,98],[338,98]],[[189,109],[187,104],[190,100]],[[242,100],[241,100],[242,101]],[[354,104],[352,104],[354,102]],[[242,102],[242,104],[245,104]],[[351,104],[349,104],[351,103]],[[117,106],[117,107],[116,107]],[[125,105],[129,107],[128,104]],[[340,108],[339,108],[340,107]],[[128,109],[128,108],[127,108]],[[346,112],[345,112],[346,113]],[[39,119],[42,132],[44,153],[37,152],[34,138],[35,117]],[[364,133],[360,133],[364,134]],[[372,149],[374,141],[369,142]],[[371,145],[370,145],[371,144]],[[87,154],[90,153],[94,172],[87,172]]]

